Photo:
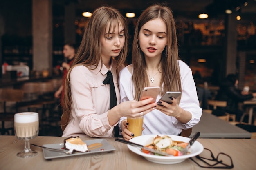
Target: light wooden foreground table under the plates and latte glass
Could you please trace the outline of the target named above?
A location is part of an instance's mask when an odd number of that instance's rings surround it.
[[[65,137],[38,136],[31,143],[56,144],[62,143]],[[95,138],[81,137],[82,140]],[[131,152],[127,145],[115,141],[115,138],[105,138],[115,151],[104,154],[65,157],[46,160],[41,148],[31,146],[38,155],[31,158],[20,158],[16,154],[24,148],[24,141],[15,136],[0,136],[0,169],[1,170],[209,170],[200,168],[190,159],[182,163],[164,165],[152,163]],[[224,152],[231,156],[234,168],[232,170],[253,170],[256,162],[256,139],[198,139],[204,146],[212,150],[214,155]]]

